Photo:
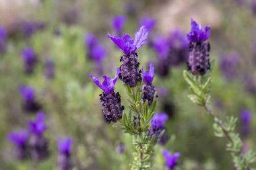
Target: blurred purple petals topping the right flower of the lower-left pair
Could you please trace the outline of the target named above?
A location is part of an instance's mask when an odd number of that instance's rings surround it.
[[[40,111],[36,114],[35,120],[30,120],[28,122],[28,126],[32,134],[36,134],[36,136],[41,136],[43,134],[43,132],[47,129],[44,119],[45,114],[44,112]]]

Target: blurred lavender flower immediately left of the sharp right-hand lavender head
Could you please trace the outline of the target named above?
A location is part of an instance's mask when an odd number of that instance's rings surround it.
[[[185,62],[189,58],[189,51],[187,38],[181,30],[174,30],[170,34],[170,53],[169,60],[170,65],[179,66]]]

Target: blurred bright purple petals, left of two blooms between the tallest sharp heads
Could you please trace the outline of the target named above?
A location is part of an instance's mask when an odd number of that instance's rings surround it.
[[[158,57],[164,59],[170,52],[170,41],[164,36],[158,36],[153,43],[153,48],[158,53]]]

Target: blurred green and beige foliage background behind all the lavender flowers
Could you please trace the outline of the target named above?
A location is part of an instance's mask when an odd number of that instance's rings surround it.
[[[0,21],[8,32],[7,51],[0,57],[0,169],[57,169],[57,136],[69,135],[73,139],[73,169],[129,169],[133,145],[131,137],[122,134],[102,118],[98,95],[101,90],[88,75],[94,73],[94,62],[86,56],[84,35],[92,32],[107,50],[103,62],[106,75],[115,75],[120,65],[121,52],[108,40],[115,15],[126,15],[124,32],[133,35],[144,16],[156,19],[156,34],[167,35],[175,28],[189,32],[190,18],[210,25],[212,34],[210,57],[215,60],[212,76],[212,105],[220,118],[234,115],[240,118],[241,110],[253,114],[250,136],[244,138],[250,147],[255,146],[256,105],[255,62],[256,10],[253,1],[239,0],[1,0]],[[24,22],[40,22],[44,27],[32,35],[24,36],[20,29]],[[34,48],[38,63],[32,75],[24,73],[21,52],[27,46]],[[225,79],[219,65],[220,57],[235,52],[240,56],[234,79]],[[44,77],[46,58],[55,62],[55,78]],[[141,65],[158,60],[149,46],[139,51]],[[228,69],[229,65],[226,66]],[[168,77],[156,75],[156,87],[166,88],[158,93],[158,112],[169,116],[166,132],[170,140],[156,146],[154,169],[165,169],[162,148],[180,152],[177,169],[234,169],[230,155],[224,151],[226,141],[216,138],[213,121],[201,108],[187,98],[188,88],[183,80],[187,66],[171,67]],[[98,75],[100,76],[100,75]],[[41,163],[15,161],[13,146],[7,139],[11,130],[26,127],[34,114],[22,110],[19,85],[36,89],[37,100],[46,113],[46,138],[51,156]],[[123,104],[127,97],[121,81]],[[241,132],[241,121],[238,121]],[[116,147],[125,144],[125,151]]]

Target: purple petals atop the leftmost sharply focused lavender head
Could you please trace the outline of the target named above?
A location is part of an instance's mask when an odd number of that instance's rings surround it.
[[[94,77],[93,75],[89,76],[92,78],[92,81],[94,81],[94,83],[98,85],[98,87],[100,87],[100,89],[102,89],[106,94],[109,94],[111,91],[115,90],[115,83],[117,82],[119,73],[120,69],[117,68],[117,75],[113,79],[107,77],[106,75],[103,75],[102,78],[104,79],[104,81],[102,83],[100,82],[100,79],[98,77]]]

